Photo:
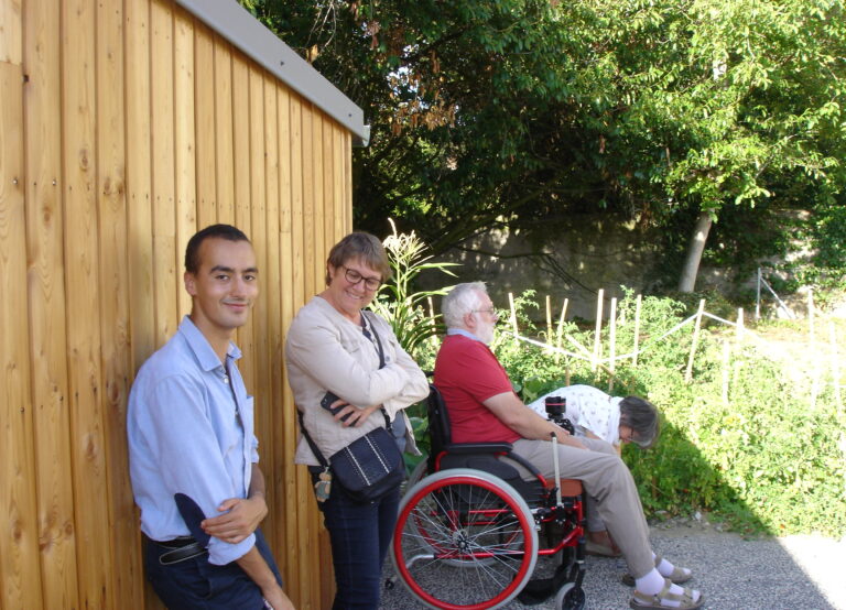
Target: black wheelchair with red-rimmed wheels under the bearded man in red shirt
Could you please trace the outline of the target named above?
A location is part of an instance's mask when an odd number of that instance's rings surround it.
[[[556,609],[583,609],[581,481],[557,489],[509,443],[452,443],[443,397],[430,389],[431,453],[409,479],[391,542],[399,579],[429,608],[501,608],[555,596]],[[514,464],[534,478],[523,480]],[[538,557],[558,553],[554,575],[533,579]]]

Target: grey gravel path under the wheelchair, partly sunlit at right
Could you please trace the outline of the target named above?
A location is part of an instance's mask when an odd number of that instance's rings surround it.
[[[690,585],[705,593],[712,610],[846,610],[846,538],[822,536],[744,540],[707,522],[653,526],[654,551],[693,570]],[[552,559],[549,559],[552,560]],[[542,569],[539,559],[539,569]],[[386,570],[392,573],[392,567]],[[629,607],[630,589],[620,582],[622,559],[588,557],[586,610]],[[448,587],[449,582],[444,582]],[[552,609],[552,601],[527,607]],[[421,608],[398,581],[386,590],[382,609]]]

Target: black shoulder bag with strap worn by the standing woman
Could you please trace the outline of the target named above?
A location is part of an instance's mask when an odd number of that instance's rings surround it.
[[[367,333],[364,311],[361,316],[361,329]],[[381,369],[384,367],[382,341],[379,339],[379,334],[376,331],[372,323],[370,327],[376,338],[379,351],[379,368]],[[390,433],[391,422],[384,409],[382,409],[384,427],[378,427],[357,438],[330,456],[328,461],[323,457],[317,445],[305,429],[302,411],[297,413],[303,436],[324,469],[315,486],[318,501],[324,501],[328,498],[326,483],[330,482],[333,478],[350,498],[362,503],[379,500],[402,482],[405,477],[404,461],[399,447],[397,447],[397,442]],[[329,472],[332,472],[332,477]]]

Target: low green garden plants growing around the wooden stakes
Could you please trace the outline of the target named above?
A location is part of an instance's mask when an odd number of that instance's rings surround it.
[[[523,298],[517,303],[523,311],[534,307]],[[618,353],[632,346],[633,311],[634,298],[627,291],[618,308]],[[680,302],[644,298],[643,352],[637,368],[628,359],[618,362],[611,388],[615,395],[642,395],[662,412],[657,446],[623,451],[647,512],[706,510],[749,533],[844,535],[846,466],[839,444],[846,439],[846,418],[838,415],[832,392],[816,396],[812,406],[810,380],[751,347],[733,353],[726,373],[716,327],[701,334],[693,381],[685,383],[692,325],[662,337],[686,315]],[[521,334],[536,334],[524,323]],[[568,331],[583,346],[593,345],[590,330],[571,326]],[[607,373],[594,373],[584,360],[556,362],[542,348],[516,345],[510,337],[499,337],[496,350],[527,402],[565,384],[567,374],[570,383],[608,390]],[[724,374],[729,378],[727,402]]]

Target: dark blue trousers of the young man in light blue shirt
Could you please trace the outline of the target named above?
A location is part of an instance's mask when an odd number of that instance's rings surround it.
[[[256,530],[256,548],[273,570],[282,586],[282,576],[270,553],[261,530]],[[177,564],[163,566],[159,557],[171,551],[153,541],[147,541],[144,564],[147,577],[164,604],[171,610],[261,610],[264,600],[261,589],[232,562],[225,566],[208,563],[203,554]]]

